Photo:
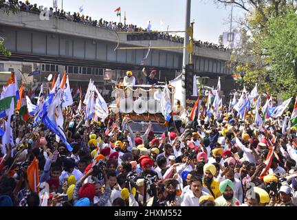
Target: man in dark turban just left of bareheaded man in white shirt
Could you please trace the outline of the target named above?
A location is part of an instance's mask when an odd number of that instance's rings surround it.
[[[177,189],[176,189],[177,184],[179,184],[177,179],[166,179],[164,184],[165,184],[165,190],[167,192],[166,206],[180,206],[181,197],[177,195]]]

